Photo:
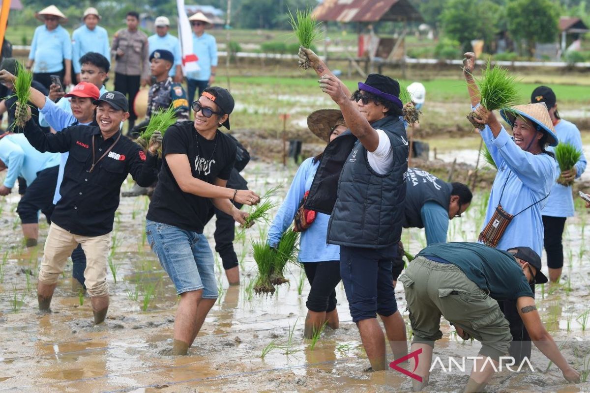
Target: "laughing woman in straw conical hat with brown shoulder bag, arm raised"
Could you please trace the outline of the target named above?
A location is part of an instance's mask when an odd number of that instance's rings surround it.
[[[485,125],[481,137],[498,168],[479,241],[501,250],[526,246],[541,255],[541,210],[558,174],[555,158],[546,150],[546,146],[558,143],[549,112],[544,103],[500,110],[501,117],[512,126],[510,137],[497,116],[480,105],[479,91],[471,76],[476,58],[471,52],[465,57],[463,71],[471,106],[482,119],[478,123]],[[530,357],[530,337],[516,303],[502,303],[513,339],[510,355],[520,363],[525,356]]]

